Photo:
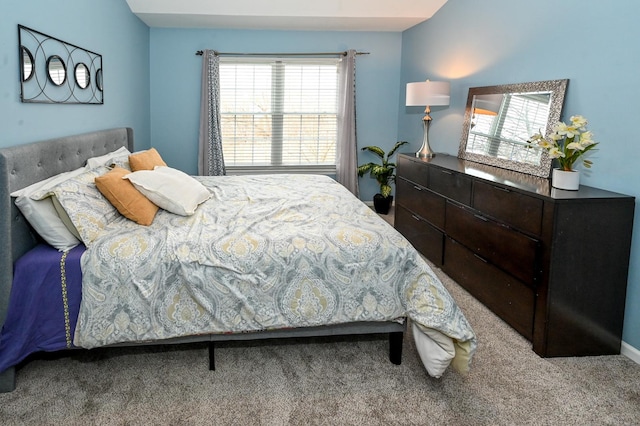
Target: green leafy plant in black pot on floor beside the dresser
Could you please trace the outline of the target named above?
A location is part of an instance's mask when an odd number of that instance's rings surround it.
[[[389,159],[396,153],[398,148],[407,144],[407,141],[399,141],[391,148],[388,154],[377,146],[365,146],[362,151],[369,151],[380,157],[381,163],[366,163],[358,167],[358,176],[362,177],[369,173],[380,185],[380,192],[373,197],[373,207],[376,213],[387,214],[393,202],[391,195],[391,183],[396,180],[396,163]]]

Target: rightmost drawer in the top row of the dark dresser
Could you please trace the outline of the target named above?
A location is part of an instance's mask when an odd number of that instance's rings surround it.
[[[511,226],[540,235],[544,202],[508,188],[476,181],[473,207]]]

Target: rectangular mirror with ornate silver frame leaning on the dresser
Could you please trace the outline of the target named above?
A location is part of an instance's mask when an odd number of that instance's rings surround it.
[[[569,80],[469,89],[458,157],[548,177],[551,158],[529,138],[560,121]]]

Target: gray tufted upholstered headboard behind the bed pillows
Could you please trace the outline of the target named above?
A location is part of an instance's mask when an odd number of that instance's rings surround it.
[[[33,248],[39,238],[9,194],[48,177],[82,167],[88,158],[115,151],[122,146],[133,151],[133,129],[101,130],[0,149],[0,324],[4,323],[7,315],[13,263]]]

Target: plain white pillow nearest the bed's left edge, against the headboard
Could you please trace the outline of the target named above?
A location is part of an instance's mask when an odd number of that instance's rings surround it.
[[[11,193],[12,197],[16,197],[16,206],[33,229],[49,245],[60,251],[71,250],[80,244],[80,240],[65,225],[55,209],[51,197],[35,200],[31,198],[31,195],[41,190],[49,191],[60,182],[78,176],[84,171],[85,168],[81,167],[71,172],[60,173]]]

